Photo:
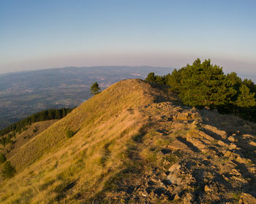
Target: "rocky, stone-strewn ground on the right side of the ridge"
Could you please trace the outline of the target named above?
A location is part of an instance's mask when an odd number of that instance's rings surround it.
[[[171,102],[142,111],[151,114],[151,134],[138,152],[157,158],[113,203],[256,203],[254,123]]]

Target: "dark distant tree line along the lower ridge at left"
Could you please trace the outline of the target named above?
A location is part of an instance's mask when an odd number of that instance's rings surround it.
[[[22,133],[34,122],[41,122],[49,119],[61,119],[70,111],[72,111],[72,109],[48,109],[45,111],[39,111],[29,117],[21,119],[20,121],[0,130],[0,143],[3,145],[8,143],[13,136],[15,136],[17,133]],[[7,133],[9,133],[8,136],[3,137],[4,135],[7,135]]]

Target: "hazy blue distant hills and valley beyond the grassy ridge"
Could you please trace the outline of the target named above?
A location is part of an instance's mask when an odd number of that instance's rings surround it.
[[[150,66],[97,66],[51,68],[0,74],[0,130],[45,109],[72,108],[91,97],[89,86],[104,90],[121,79],[142,78],[172,68]]]

